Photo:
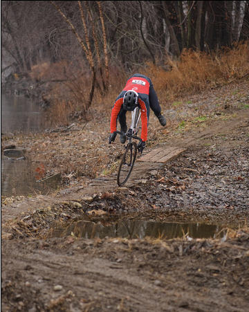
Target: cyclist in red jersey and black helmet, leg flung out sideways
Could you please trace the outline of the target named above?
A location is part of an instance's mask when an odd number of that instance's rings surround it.
[[[164,127],[166,125],[165,116],[163,116],[162,109],[158,102],[156,91],[149,77],[136,73],[129,77],[122,92],[116,98],[113,109],[111,111],[111,135],[109,136],[109,143],[114,142],[116,135],[113,134],[117,129],[117,120],[120,122],[120,131],[126,133],[126,113],[133,111],[137,106],[141,109],[142,142],[138,143],[138,151],[142,153],[147,141],[147,127],[149,122],[149,111],[154,111],[160,124]],[[125,135],[120,135],[120,142],[124,144],[126,141]]]

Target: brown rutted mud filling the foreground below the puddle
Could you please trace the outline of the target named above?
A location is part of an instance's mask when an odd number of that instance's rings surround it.
[[[225,242],[3,240],[2,311],[248,311],[248,248],[243,232]]]

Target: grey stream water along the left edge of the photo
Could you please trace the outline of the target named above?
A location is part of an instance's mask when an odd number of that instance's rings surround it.
[[[1,95],[1,134],[32,134],[45,127],[44,113],[39,105],[24,96]],[[48,194],[51,191],[47,185],[36,182],[31,159],[17,160],[1,155],[2,196]]]

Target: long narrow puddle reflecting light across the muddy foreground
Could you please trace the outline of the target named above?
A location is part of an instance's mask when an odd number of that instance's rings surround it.
[[[184,233],[184,234],[183,234]],[[104,237],[122,237],[128,239],[183,237],[188,233],[192,238],[219,238],[225,232],[221,226],[205,223],[159,223],[144,220],[122,220],[118,223],[101,221],[75,221],[66,228],[54,228],[50,237],[64,237],[74,235],[84,239],[104,239]]]

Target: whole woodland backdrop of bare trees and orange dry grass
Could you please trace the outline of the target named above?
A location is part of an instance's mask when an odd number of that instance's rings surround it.
[[[1,1],[1,89],[64,125],[135,72],[165,103],[248,75],[248,34],[249,1]]]

